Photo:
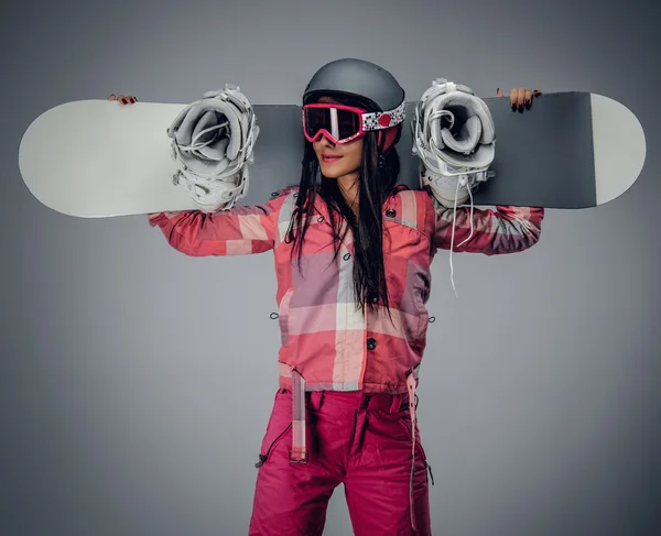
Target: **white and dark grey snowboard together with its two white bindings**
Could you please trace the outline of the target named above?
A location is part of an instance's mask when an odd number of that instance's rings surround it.
[[[509,98],[438,79],[405,111],[400,182],[446,206],[470,188],[475,205],[595,207],[631,187],[644,163],[636,116],[597,94],[544,94],[521,114]],[[71,216],[212,211],[296,185],[303,146],[299,106],[253,106],[226,86],[189,105],[56,106],[26,129],[19,166],[34,197]]]

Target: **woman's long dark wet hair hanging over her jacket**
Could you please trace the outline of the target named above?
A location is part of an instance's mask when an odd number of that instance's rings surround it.
[[[355,98],[332,96],[346,106],[368,108],[368,110],[370,108],[366,102]],[[299,196],[285,238],[285,241],[294,242],[292,254],[297,251],[299,270],[301,270],[303,240],[315,216],[315,200],[319,196],[328,206],[335,245],[334,261],[337,259],[339,245],[348,229],[351,229],[355,248],[354,291],[358,308],[365,310],[365,306],[368,305],[373,309],[380,303],[389,314],[390,304],[383,265],[382,207],[386,199],[393,194],[399,179],[400,160],[394,149],[401,133],[401,125],[399,128],[394,142],[384,153],[377,144],[378,132],[370,131],[364,138],[362,163],[358,177],[358,218],[346,203],[337,179],[327,178],[321,173],[313,145],[305,140]],[[343,226],[344,221],[347,225]],[[342,232],[343,227],[344,232]]]

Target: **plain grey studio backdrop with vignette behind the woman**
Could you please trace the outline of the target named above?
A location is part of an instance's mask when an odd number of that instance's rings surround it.
[[[254,103],[295,103],[342,56],[382,64],[410,99],[443,76],[483,97],[602,92],[640,118],[647,163],[621,198],[549,210],[524,253],[455,255],[458,299],[438,254],[419,411],[434,534],[661,534],[661,77],[647,4],[4,3],[0,534],[246,534],[277,390],[272,254],[186,258],[144,217],[57,214],[22,184],[22,132],[110,92],[188,102],[235,83]],[[342,488],[325,534],[351,534]]]

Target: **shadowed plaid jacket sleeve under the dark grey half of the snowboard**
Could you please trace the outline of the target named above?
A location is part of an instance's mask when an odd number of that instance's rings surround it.
[[[516,253],[532,248],[540,239],[543,208],[498,205],[492,210],[474,207],[470,236],[470,207],[457,207],[455,219],[453,208],[445,208],[435,199],[433,205],[436,212],[434,242],[437,249],[449,249],[453,221],[453,251],[457,252],[486,255]],[[462,242],[464,243],[459,247]]]

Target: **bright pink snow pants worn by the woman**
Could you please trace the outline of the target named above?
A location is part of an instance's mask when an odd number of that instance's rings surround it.
[[[257,464],[249,536],[321,536],[340,482],[355,536],[431,535],[427,463],[418,426],[412,528],[408,394],[314,391],[305,401],[308,459],[293,463],[292,392],[275,394]]]

